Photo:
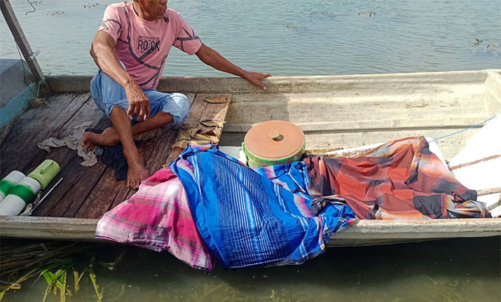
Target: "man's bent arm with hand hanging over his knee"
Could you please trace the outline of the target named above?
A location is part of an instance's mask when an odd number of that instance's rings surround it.
[[[94,41],[92,41],[90,55],[92,55],[92,59],[94,59],[99,69],[125,89],[125,95],[127,95],[129,102],[127,114],[132,117],[139,114],[137,120],[144,119],[146,121],[150,114],[149,98],[146,97],[136,81],[122,67],[115,55],[114,48],[114,39],[106,32],[98,31]]]

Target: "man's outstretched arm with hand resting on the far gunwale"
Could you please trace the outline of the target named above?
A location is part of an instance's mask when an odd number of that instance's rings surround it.
[[[215,69],[228,72],[228,74],[234,74],[235,76],[240,76],[240,78],[245,78],[245,80],[249,81],[263,90],[266,90],[266,87],[261,83],[263,78],[268,78],[271,76],[270,74],[263,74],[261,72],[249,72],[241,69],[230,61],[226,60],[222,55],[219,55],[216,50],[205,46],[202,43],[200,49],[195,53],[200,61],[205,64],[214,67]]]

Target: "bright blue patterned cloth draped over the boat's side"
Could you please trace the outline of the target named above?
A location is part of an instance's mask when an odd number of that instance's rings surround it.
[[[224,268],[303,263],[356,220],[347,205],[310,212],[302,162],[252,170],[209,145],[188,146],[170,168],[201,238]]]

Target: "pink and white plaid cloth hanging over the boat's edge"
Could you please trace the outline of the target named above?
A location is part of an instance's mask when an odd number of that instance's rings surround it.
[[[96,238],[157,252],[166,249],[192,268],[214,268],[193,222],[183,185],[169,168],[158,170],[129,200],[104,214]]]

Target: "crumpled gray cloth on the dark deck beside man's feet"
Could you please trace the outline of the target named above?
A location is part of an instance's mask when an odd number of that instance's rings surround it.
[[[85,151],[83,146],[81,146],[80,142],[83,137],[83,133],[85,133],[85,129],[89,128],[94,121],[88,121],[85,123],[81,123],[73,128],[73,133],[64,137],[62,139],[58,139],[55,137],[50,137],[49,139],[44,140],[39,143],[39,148],[50,152],[50,147],[62,147],[67,146],[71,150],[76,150],[78,156],[83,158],[83,162],[80,165],[85,167],[91,167],[97,163],[97,157],[94,151]]]

